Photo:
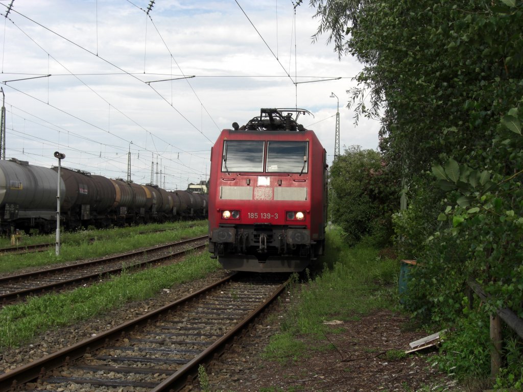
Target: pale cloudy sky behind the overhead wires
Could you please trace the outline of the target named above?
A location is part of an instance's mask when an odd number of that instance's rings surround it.
[[[331,93],[342,153],[377,148],[379,124],[355,126],[345,108],[360,65],[338,60],[326,37],[313,42],[306,1],[295,13],[290,0],[150,3],[0,0],[7,159],[50,167],[60,151],[65,167],[126,179],[130,151],[133,181],[153,171],[154,183],[186,189],[207,179],[222,129],[298,106],[332,162]]]

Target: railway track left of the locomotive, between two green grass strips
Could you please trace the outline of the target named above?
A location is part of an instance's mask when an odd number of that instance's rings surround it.
[[[0,278],[0,304],[6,305],[27,296],[99,280],[100,276],[120,273],[123,269],[143,268],[188,250],[201,248],[207,241],[208,236],[205,235],[123,255],[5,276]]]

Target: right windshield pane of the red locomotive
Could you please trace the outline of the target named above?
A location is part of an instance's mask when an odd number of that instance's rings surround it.
[[[267,172],[306,173],[308,158],[307,142],[268,142]]]

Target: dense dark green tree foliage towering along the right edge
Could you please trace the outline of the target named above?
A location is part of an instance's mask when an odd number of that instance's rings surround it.
[[[380,118],[385,162],[407,182],[394,228],[402,255],[420,264],[411,310],[461,317],[473,278],[490,294],[481,312],[523,317],[523,2],[311,5],[316,38],[328,33],[340,56],[363,64],[348,107]],[[514,374],[523,383],[521,367]]]

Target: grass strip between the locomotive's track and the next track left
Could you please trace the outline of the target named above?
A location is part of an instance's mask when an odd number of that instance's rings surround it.
[[[128,302],[154,297],[162,289],[203,278],[220,268],[218,262],[204,252],[189,255],[184,261],[170,266],[132,274],[124,272],[105,283],[6,306],[0,310],[0,348],[16,346],[50,328],[72,325]]]

